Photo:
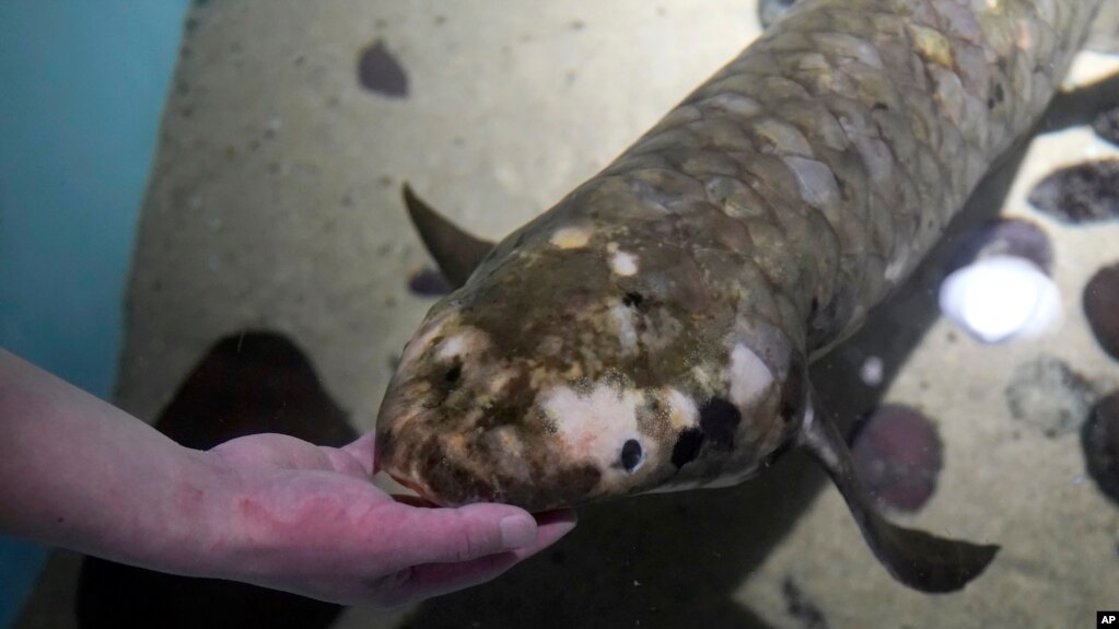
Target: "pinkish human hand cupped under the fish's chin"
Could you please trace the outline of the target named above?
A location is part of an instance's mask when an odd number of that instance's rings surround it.
[[[571,510],[391,496],[370,482],[372,433],[340,449],[255,434],[207,454],[229,498],[210,516],[222,575],[325,601],[395,607],[477,585],[575,526]]]

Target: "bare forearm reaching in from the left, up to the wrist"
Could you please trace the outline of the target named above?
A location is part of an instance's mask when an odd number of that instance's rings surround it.
[[[211,459],[0,350],[0,533],[196,573],[228,501]]]

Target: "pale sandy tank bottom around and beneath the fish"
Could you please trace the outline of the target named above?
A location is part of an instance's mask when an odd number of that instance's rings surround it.
[[[423,293],[438,292],[402,184],[499,237],[759,29],[743,0],[196,2],[138,234],[117,403],[153,421],[218,339],[271,331],[370,430],[433,303]],[[1116,69],[1083,55],[1075,77]],[[962,592],[894,583],[839,494],[792,456],[737,488],[587,507],[568,538],[493,583],[392,613],[347,610],[335,627],[1091,626],[1094,610],[1119,608],[1119,506],[1085,471],[1080,420],[1038,424],[1008,401],[1015,382],[1042,386],[1022,375],[1038,359],[1066,365],[1088,406],[1119,388],[1081,308],[1089,278],[1119,262],[1119,222],[1071,225],[1026,201],[1056,168],[1107,156],[1119,150],[1085,126],[1043,137],[1005,195],[1005,215],[1050,238],[1057,331],[988,346],[939,318],[929,291],[949,243],[815,367],[848,425],[881,403],[930,419],[942,469],[928,503],[896,519],[1003,545]],[[56,554],[19,627],[74,626],[77,562]]]

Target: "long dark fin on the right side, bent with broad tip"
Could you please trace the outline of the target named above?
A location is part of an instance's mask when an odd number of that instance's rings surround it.
[[[838,429],[822,413],[815,395],[805,410],[799,445],[808,451],[839,488],[863,537],[894,579],[922,592],[952,592],[978,576],[998,546],[979,545],[887,522],[855,473],[850,451]]]

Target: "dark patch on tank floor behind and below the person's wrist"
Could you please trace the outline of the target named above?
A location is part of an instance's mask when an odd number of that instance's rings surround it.
[[[303,351],[267,331],[218,340],[154,425],[198,450],[261,432],[335,447],[357,438]],[[329,627],[342,609],[256,585],[162,574],[97,557],[83,560],[75,593],[82,629],[316,629]]]

